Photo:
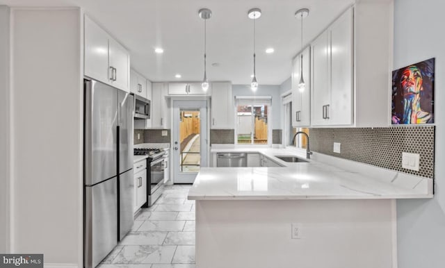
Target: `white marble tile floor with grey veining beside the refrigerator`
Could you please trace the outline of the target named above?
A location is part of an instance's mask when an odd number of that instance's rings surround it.
[[[167,185],[143,208],[126,237],[98,268],[195,268],[195,201],[191,185]]]

